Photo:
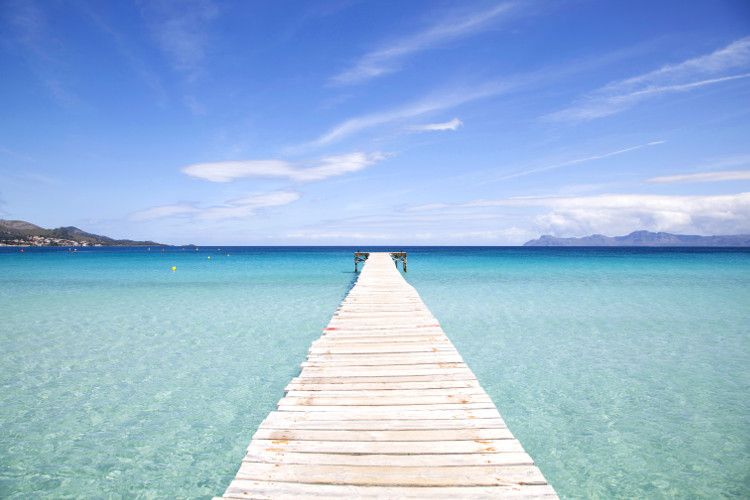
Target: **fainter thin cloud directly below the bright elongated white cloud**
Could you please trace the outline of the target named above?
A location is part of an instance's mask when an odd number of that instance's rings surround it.
[[[295,191],[271,191],[252,194],[229,200],[221,205],[201,206],[197,203],[176,203],[148,208],[131,214],[134,221],[146,221],[169,217],[190,217],[196,220],[227,220],[252,217],[258,210],[278,207],[295,202],[300,194]]]

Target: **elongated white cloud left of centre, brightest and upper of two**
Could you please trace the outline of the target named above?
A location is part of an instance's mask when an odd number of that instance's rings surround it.
[[[295,182],[319,181],[363,170],[386,158],[383,153],[355,152],[327,156],[312,166],[284,160],[240,160],[188,165],[182,172],[211,182],[232,182],[244,177],[278,177]]]

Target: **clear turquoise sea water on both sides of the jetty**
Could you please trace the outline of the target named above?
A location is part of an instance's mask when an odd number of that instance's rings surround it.
[[[351,250],[0,253],[0,497],[221,493]],[[561,496],[750,496],[750,252],[407,250]]]

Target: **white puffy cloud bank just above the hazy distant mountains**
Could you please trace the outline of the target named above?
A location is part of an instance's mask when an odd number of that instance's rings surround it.
[[[541,208],[531,216],[540,232],[557,236],[624,234],[634,230],[697,234],[750,233],[750,193],[716,196],[603,194],[578,197],[520,197],[474,200],[445,208]]]

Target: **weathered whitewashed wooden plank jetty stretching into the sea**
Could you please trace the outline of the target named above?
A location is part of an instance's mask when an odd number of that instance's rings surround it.
[[[363,260],[222,498],[556,498],[392,256]]]

